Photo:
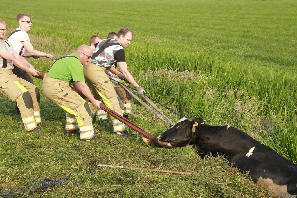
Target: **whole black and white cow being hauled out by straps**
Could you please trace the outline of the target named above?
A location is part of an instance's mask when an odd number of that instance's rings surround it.
[[[297,165],[241,130],[202,123],[201,118],[183,118],[158,136],[158,144],[169,148],[194,145],[200,154],[222,154],[233,167],[249,171],[259,186],[277,196],[296,197]]]

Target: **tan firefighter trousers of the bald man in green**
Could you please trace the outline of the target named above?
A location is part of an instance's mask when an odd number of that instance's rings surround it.
[[[71,89],[69,82],[50,78],[46,73],[43,77],[42,90],[46,98],[67,112],[65,129],[79,129],[80,139],[94,137],[89,104]]]

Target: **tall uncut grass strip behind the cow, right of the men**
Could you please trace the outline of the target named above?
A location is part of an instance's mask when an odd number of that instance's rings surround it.
[[[127,54],[132,71],[142,73],[140,84],[149,94],[183,114],[203,117],[208,124],[231,122],[242,130],[257,130],[251,123],[257,119],[259,123],[259,117],[266,122],[274,119],[270,129],[259,130],[263,135],[259,140],[297,162],[296,70],[286,73],[222,61],[205,51],[181,53],[144,46],[131,47]],[[235,109],[238,105],[242,111]]]

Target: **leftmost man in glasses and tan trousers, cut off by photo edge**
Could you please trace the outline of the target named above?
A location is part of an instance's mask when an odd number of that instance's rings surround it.
[[[37,128],[43,125],[39,112],[39,90],[28,81],[13,75],[13,69],[20,67],[33,76],[38,76],[37,70],[19,56],[9,41],[4,40],[7,24],[0,19],[0,92],[13,101],[18,102],[23,124],[27,132],[42,133]]]

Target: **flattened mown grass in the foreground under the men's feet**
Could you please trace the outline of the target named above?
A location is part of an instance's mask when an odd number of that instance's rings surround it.
[[[36,80],[37,86],[41,85]],[[42,97],[42,117],[48,127],[42,135],[26,133],[19,116],[13,115],[14,104],[1,97],[1,191],[18,189],[32,179],[72,176],[80,180],[78,186],[70,182],[65,188],[50,188],[47,192],[28,191],[29,195],[45,197],[270,197],[258,188],[247,175],[228,166],[222,157],[201,159],[189,148],[163,149],[148,146],[141,136],[131,138],[113,135],[108,121],[95,122],[96,133],[102,138],[86,144],[77,136],[65,136],[64,111]],[[133,106],[132,122],[138,123],[153,135],[162,133],[166,126],[139,105]],[[164,109],[162,109],[166,112]],[[168,112],[166,112],[169,114]],[[7,117],[9,119],[7,119]],[[173,119],[177,119],[172,116]],[[124,165],[199,173],[171,175],[141,170],[100,168],[98,164]],[[210,175],[217,175],[210,176]]]

